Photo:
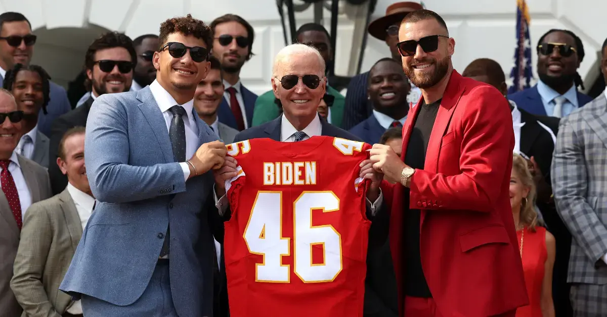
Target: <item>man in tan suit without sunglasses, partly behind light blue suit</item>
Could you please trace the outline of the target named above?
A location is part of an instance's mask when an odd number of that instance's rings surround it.
[[[58,155],[67,187],[33,204],[21,231],[10,287],[25,310],[22,317],[82,316],[80,301],[60,292],[59,284],[95,205],[84,165],[84,127],[66,132]]]

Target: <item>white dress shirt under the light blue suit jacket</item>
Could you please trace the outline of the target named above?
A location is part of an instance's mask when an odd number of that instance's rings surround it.
[[[167,92],[164,88],[158,83],[158,81],[152,82],[150,85],[150,90],[152,91],[152,96],[156,103],[158,104],[158,108],[160,108],[160,112],[164,116],[164,122],[166,122],[166,130],[171,128],[171,119],[173,115],[169,112],[169,108],[174,105],[178,105],[177,101]],[[186,115],[188,118],[183,118],[183,123],[185,124],[186,130],[186,159],[191,158],[198,150],[198,125],[196,125],[196,121],[194,119],[194,114],[192,113],[192,108],[194,108],[194,99],[182,104],[181,107],[186,110]],[[179,162],[181,165],[181,169],[183,170],[183,176],[185,179],[189,177],[189,166],[186,162]]]

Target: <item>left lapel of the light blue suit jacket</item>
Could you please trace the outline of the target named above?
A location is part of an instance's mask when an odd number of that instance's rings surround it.
[[[148,123],[152,127],[152,132],[156,136],[158,144],[160,144],[160,150],[164,156],[164,161],[167,163],[175,162],[173,156],[173,149],[171,147],[171,139],[169,139],[169,132],[166,129],[166,122],[164,116],[160,112],[160,108],[156,103],[152,92],[148,87],[145,87],[137,92],[137,99],[141,101],[138,105],[139,109],[146,117]]]

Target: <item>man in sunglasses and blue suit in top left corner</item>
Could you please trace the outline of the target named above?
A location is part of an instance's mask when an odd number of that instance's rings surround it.
[[[32,34],[32,25],[24,15],[17,12],[5,12],[0,15],[0,87],[7,70],[15,64],[29,65],[32,61],[36,36]],[[72,110],[65,88],[49,82],[50,99],[47,113],[40,111],[38,131],[50,137],[50,124],[58,116]]]

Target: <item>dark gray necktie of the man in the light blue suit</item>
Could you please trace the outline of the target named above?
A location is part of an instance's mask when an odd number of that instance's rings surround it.
[[[180,105],[174,105],[169,108],[169,112],[172,113],[171,126],[169,127],[169,138],[171,139],[171,145],[173,148],[173,156],[176,162],[186,161],[186,127],[183,123],[183,115],[186,114],[186,110]],[[162,249],[160,250],[160,257],[164,257],[169,254],[171,241],[171,226],[166,228],[166,235],[164,236],[164,242]]]

